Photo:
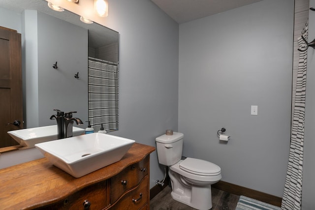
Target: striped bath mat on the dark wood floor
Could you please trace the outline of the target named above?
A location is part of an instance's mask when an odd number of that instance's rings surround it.
[[[281,210],[281,208],[242,195],[235,210]]]

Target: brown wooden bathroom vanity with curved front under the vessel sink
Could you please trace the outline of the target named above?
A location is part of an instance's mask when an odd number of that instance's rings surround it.
[[[134,143],[120,161],[81,178],[46,158],[1,169],[1,209],[149,210],[154,150]]]

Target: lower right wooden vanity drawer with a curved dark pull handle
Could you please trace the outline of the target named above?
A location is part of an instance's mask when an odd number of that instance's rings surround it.
[[[148,209],[149,176],[146,176],[140,184],[128,191],[117,203],[111,206],[110,210],[146,210]],[[147,206],[147,207],[146,207]]]

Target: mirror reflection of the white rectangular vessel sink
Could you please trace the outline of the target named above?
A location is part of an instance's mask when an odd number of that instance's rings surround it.
[[[81,135],[84,131],[84,129],[74,126],[72,129],[73,136]],[[34,145],[38,143],[58,139],[57,125],[11,130],[7,133],[20,145],[29,148],[34,147]]]

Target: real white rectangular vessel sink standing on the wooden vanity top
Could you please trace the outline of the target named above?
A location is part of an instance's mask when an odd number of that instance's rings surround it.
[[[75,178],[122,159],[135,141],[104,133],[90,133],[36,144],[47,159]]]

